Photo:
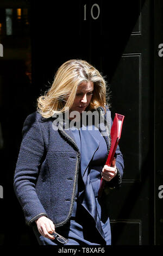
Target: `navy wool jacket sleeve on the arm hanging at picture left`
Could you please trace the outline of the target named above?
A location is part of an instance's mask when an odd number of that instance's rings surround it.
[[[14,190],[28,225],[40,216],[47,216],[35,191],[43,151],[44,143],[40,123],[36,114],[33,113],[28,115],[24,121],[22,142],[14,175]]]

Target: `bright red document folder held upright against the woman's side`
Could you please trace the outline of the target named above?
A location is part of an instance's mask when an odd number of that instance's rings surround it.
[[[123,125],[124,115],[115,114],[114,121],[111,126],[110,136],[111,136],[111,147],[109,151],[108,158],[106,160],[105,165],[111,166],[111,162],[113,160],[113,157],[115,155],[115,151],[117,148],[117,145],[121,138],[121,131],[122,131],[122,125]],[[101,197],[102,191],[105,185],[105,180],[103,178],[101,179],[101,184],[98,191],[98,197]]]

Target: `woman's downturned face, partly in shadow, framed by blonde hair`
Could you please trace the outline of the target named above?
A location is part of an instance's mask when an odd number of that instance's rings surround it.
[[[93,89],[93,82],[84,81],[80,83],[70,112],[78,111],[79,113],[82,113],[83,111],[85,111],[85,108],[89,106],[89,103],[91,101]]]

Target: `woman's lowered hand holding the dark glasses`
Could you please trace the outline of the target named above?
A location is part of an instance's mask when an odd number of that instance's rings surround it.
[[[48,239],[55,239],[54,236],[51,235],[55,231],[55,226],[49,218],[41,216],[35,222],[37,229],[42,236],[47,237]]]

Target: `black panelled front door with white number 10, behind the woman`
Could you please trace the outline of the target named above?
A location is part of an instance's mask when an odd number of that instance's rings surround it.
[[[85,59],[108,81],[112,118],[125,115],[123,183],[108,198],[113,245],[154,243],[154,8],[143,0],[33,6],[38,93],[66,60]]]

